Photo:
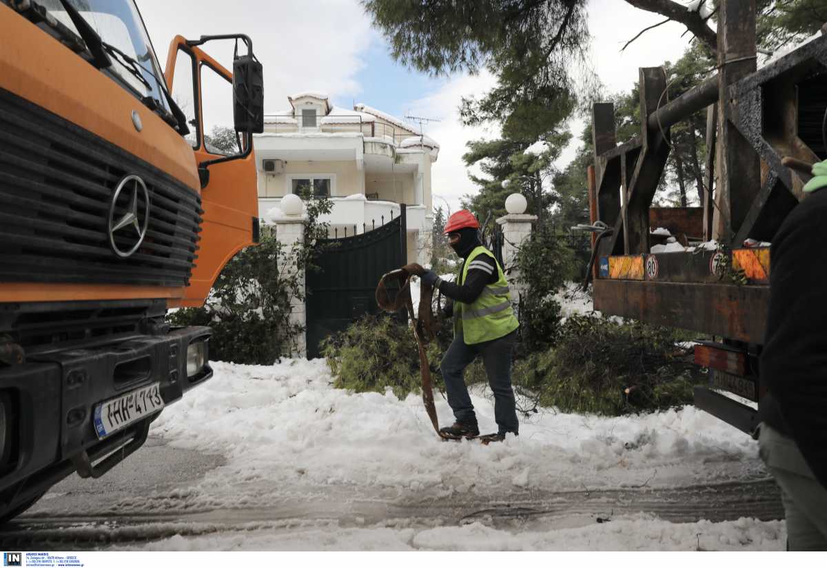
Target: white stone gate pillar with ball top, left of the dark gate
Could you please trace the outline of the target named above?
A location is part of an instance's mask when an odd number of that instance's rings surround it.
[[[289,277],[298,274],[299,288],[304,289],[304,269],[296,266],[296,252],[304,245],[304,203],[298,195],[289,194],[282,198],[280,209],[270,209],[270,221],[275,223],[275,238],[283,245],[278,259],[280,272]],[[290,299],[290,323],[307,328],[307,309],[304,298]],[[307,356],[307,335],[304,331],[291,338],[290,356]]]

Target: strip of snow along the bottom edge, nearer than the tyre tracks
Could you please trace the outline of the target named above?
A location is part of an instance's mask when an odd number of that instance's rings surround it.
[[[174,536],[149,547],[118,550],[164,551],[782,551],[783,521],[739,518],[724,523],[669,523],[647,514],[595,523],[583,515],[578,526],[539,526],[519,532],[485,526],[404,527],[390,519],[373,527],[342,527],[339,523],[248,523],[235,534]],[[357,523],[358,524],[358,520]],[[385,526],[382,526],[382,525]],[[284,526],[281,526],[284,525]],[[401,525],[401,526],[399,526]],[[170,527],[173,528],[173,527]],[[134,529],[133,529],[134,530]]]

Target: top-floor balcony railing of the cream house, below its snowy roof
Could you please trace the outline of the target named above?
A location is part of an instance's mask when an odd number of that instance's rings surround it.
[[[292,132],[361,132],[366,138],[378,138],[399,146],[407,138],[418,136],[384,122],[367,122],[352,114],[328,114],[324,117],[267,116],[265,125],[268,132],[289,134]]]

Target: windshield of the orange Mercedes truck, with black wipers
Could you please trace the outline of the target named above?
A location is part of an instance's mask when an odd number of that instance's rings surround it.
[[[79,34],[60,0],[38,0],[38,3],[69,30]],[[162,116],[169,116],[171,109],[164,94],[164,76],[135,2],[69,0],[69,3],[103,41],[103,48],[112,60],[112,66],[103,70],[117,75],[117,79]]]

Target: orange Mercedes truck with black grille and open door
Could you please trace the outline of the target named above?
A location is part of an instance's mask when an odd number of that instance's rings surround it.
[[[208,76],[231,150],[205,139]],[[247,36],[177,36],[162,71],[133,0],[0,0],[0,520],[111,470],[213,375],[210,329],[165,314],[258,240],[261,131]]]

